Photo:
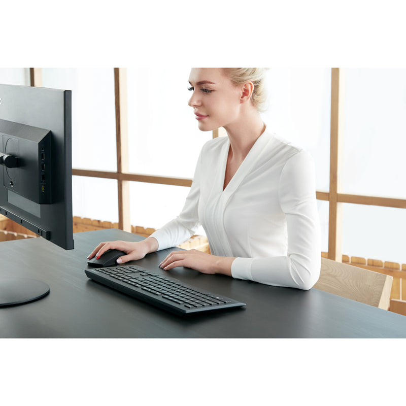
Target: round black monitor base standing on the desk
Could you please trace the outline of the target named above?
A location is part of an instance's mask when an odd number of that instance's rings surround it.
[[[0,307],[27,303],[49,293],[49,286],[41,281],[25,278],[0,279]]]

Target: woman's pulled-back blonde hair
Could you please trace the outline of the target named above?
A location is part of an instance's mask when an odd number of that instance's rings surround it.
[[[260,112],[266,110],[265,67],[225,67],[224,72],[235,85],[252,82],[254,90],[251,101]]]

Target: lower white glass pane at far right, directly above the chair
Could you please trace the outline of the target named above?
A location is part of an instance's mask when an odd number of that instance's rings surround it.
[[[343,254],[406,263],[406,210],[344,204]]]

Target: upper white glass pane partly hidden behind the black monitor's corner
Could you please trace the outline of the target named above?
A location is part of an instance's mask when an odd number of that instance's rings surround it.
[[[72,166],[117,171],[114,69],[42,73],[44,87],[72,90]]]

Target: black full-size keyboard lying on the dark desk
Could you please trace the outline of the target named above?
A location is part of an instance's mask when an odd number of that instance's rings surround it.
[[[138,265],[85,269],[88,278],[177,315],[246,306]]]

